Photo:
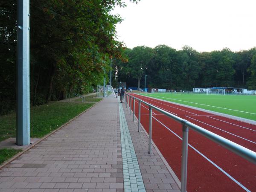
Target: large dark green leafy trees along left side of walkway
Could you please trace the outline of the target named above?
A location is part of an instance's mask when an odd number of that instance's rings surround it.
[[[130,0],[137,3],[139,0]],[[41,105],[102,84],[109,58],[121,58],[115,6],[122,0],[30,1],[30,100]],[[15,109],[17,1],[0,3],[0,115]]]

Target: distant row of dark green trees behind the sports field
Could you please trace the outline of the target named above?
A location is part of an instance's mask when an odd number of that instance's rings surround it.
[[[138,81],[141,79],[144,81],[144,78],[141,78],[143,74],[147,74],[146,87],[149,88],[168,90],[192,90],[193,87],[246,88],[246,84],[249,89],[256,90],[253,59],[256,48],[239,52],[224,48],[221,51],[200,53],[188,46],[175,50],[166,45],[159,45],[154,49],[144,46],[134,47],[127,49],[125,54],[128,61],[115,61],[115,68],[117,82],[127,82],[128,87],[136,87]],[[142,87],[144,86],[140,86]]]

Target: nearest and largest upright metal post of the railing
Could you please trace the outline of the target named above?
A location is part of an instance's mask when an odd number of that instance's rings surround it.
[[[181,192],[186,192],[189,128],[182,125]]]

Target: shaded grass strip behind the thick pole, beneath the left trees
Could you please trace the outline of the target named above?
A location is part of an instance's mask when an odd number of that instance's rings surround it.
[[[51,102],[30,109],[30,137],[41,138],[94,103]],[[16,114],[0,116],[0,141],[16,137]]]

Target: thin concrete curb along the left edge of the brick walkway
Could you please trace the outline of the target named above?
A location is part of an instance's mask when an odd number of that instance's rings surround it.
[[[103,100],[103,99],[102,99]],[[94,105],[92,105],[90,108],[93,108],[95,105],[98,105],[98,103],[100,103],[102,100],[100,100],[99,102],[95,103]],[[22,155],[23,153],[25,153],[26,151],[28,151],[29,149],[31,149],[32,147],[34,147],[35,145],[37,145],[38,143],[40,143],[41,141],[43,141],[44,139],[46,139],[47,137],[51,136],[52,134],[54,134],[56,131],[60,130],[61,128],[63,128],[65,125],[67,125],[68,123],[70,123],[71,121],[73,121],[74,119],[76,119],[77,117],[79,117],[81,114],[85,113],[86,111],[88,111],[90,108],[86,109],[85,111],[81,112],[80,114],[78,114],[77,116],[75,116],[73,119],[70,119],[68,122],[64,123],[63,125],[61,125],[59,128],[55,129],[54,131],[52,131],[51,133],[45,135],[44,137],[42,137],[40,140],[38,140],[35,143],[32,143],[28,148],[26,148],[24,151],[19,152],[18,154],[16,154],[15,156],[13,156],[11,159],[7,160],[5,163],[3,163],[3,165],[0,166],[0,169],[3,169],[6,165],[8,165],[9,163],[11,163],[12,161],[14,161],[17,157],[20,157],[20,155]]]

